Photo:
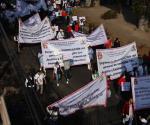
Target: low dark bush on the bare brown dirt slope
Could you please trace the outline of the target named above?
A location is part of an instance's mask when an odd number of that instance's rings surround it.
[[[101,16],[101,18],[105,20],[117,18],[117,12],[114,10],[108,10]]]

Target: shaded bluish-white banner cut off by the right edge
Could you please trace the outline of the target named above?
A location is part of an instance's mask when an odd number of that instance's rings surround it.
[[[135,110],[150,108],[150,76],[131,79]]]

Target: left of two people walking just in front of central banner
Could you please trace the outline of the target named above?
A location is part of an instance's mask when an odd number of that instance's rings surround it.
[[[62,70],[61,66],[59,65],[59,62],[56,62],[54,65],[53,77],[55,77],[55,79],[56,79],[57,86],[59,86],[60,81],[62,79],[62,73],[63,73],[63,70]]]

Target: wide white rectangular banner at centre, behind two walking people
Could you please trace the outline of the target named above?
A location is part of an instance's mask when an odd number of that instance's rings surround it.
[[[85,37],[65,40],[47,40],[41,43],[45,68],[53,68],[56,61],[63,66],[63,55],[68,55],[72,65],[88,64],[90,62]]]

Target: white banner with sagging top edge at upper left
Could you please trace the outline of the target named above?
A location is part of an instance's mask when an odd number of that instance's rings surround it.
[[[46,17],[38,25],[26,26],[19,20],[19,43],[40,43],[41,41],[54,38],[49,19]]]

